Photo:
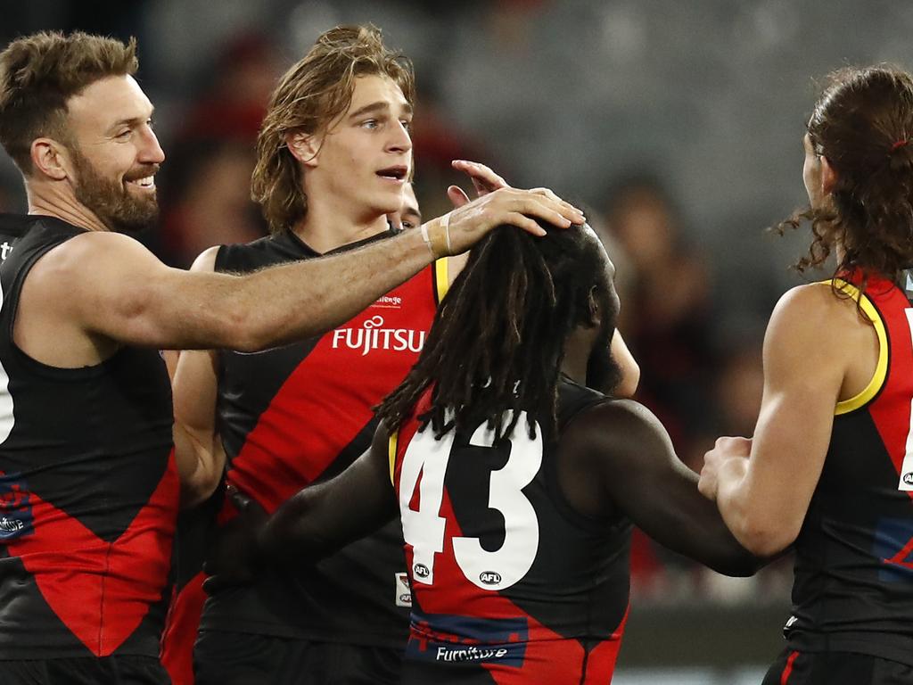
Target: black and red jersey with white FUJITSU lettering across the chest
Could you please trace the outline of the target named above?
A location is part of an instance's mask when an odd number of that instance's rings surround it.
[[[286,232],[221,248],[215,268],[243,273],[319,256]],[[229,484],[274,511],[370,448],[372,407],[418,359],[438,291],[446,289],[445,265],[422,270],[319,337],[264,353],[221,354],[218,430]],[[295,579],[267,574],[252,588],[219,593],[207,601],[201,627],[402,647],[411,602],[402,543],[398,523],[391,524]]]

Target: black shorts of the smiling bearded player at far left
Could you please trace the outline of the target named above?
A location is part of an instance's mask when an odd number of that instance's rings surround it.
[[[171,685],[154,657],[0,661],[3,685]]]

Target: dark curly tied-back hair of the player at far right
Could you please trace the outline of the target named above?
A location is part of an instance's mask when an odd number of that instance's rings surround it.
[[[860,273],[862,290],[871,274],[897,282],[913,264],[913,78],[887,66],[835,71],[808,135],[836,184],[832,202],[799,210],[775,227],[782,234],[812,225],[812,245],[794,267],[818,268],[839,245],[832,279]]]

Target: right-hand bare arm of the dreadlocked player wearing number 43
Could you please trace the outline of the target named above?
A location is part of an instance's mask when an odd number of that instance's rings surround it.
[[[750,575],[763,563],[732,536],[698,491],[645,406],[616,400],[577,416],[561,438],[561,490],[594,518],[626,515],[656,542],[721,574]]]

